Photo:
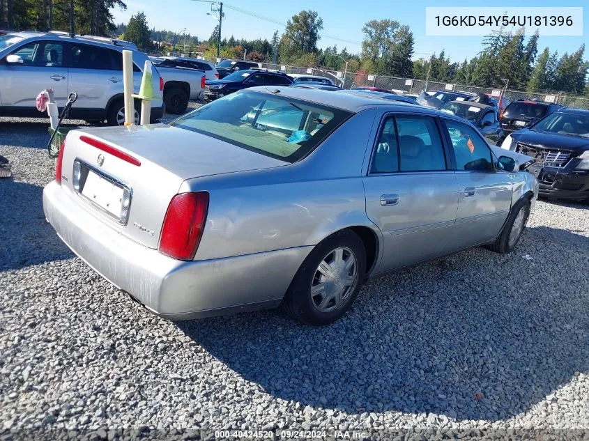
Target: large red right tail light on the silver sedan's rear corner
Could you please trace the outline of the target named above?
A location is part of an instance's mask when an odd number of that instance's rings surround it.
[[[160,253],[191,261],[201,242],[207,211],[207,192],[176,194],[164,218],[158,247]]]

